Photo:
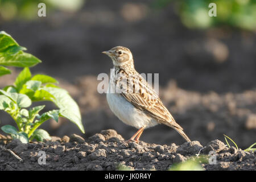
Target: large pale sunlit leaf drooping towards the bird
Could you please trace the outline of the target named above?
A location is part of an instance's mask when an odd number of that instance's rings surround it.
[[[82,133],[85,133],[84,126],[82,126],[79,106],[76,104],[73,98],[69,96],[68,92],[64,89],[52,87],[44,87],[42,89],[46,90],[52,94],[52,96],[54,96],[51,101],[60,108],[60,116],[67,118],[71,122],[75,123],[82,131]]]

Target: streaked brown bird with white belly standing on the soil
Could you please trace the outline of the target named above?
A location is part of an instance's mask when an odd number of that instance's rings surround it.
[[[123,123],[138,129],[127,141],[139,142],[144,129],[163,124],[175,129],[186,142],[191,142],[152,86],[135,70],[130,49],[116,46],[102,53],[108,55],[114,65],[110,69],[106,93],[110,110]]]

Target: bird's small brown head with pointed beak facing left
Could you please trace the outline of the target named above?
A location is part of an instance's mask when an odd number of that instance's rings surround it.
[[[105,53],[112,59],[115,67],[121,67],[125,64],[133,65],[133,55],[129,48],[116,46],[109,51],[103,51],[102,53]]]

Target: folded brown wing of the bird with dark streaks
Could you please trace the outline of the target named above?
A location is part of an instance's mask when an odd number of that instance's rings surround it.
[[[152,86],[138,72],[135,71],[132,76],[129,76],[123,69],[120,69],[118,73],[126,75],[126,79],[116,77],[115,85],[120,89],[119,92],[127,101],[137,109],[155,118],[159,123],[182,129],[163,105]],[[124,88],[125,86],[126,88]]]

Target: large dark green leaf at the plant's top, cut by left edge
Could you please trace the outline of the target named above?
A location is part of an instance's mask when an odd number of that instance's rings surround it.
[[[23,52],[26,48],[19,46],[17,42],[6,32],[0,32],[0,65],[14,67],[32,67],[41,61],[30,53]]]

